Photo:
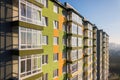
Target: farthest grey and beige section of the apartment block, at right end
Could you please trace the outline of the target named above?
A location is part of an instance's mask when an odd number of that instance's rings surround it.
[[[97,80],[108,80],[109,75],[109,36],[103,31],[97,32]]]

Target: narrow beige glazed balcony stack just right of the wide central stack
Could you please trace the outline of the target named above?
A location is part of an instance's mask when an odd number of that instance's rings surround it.
[[[89,21],[84,21],[84,79],[93,80],[93,27]]]

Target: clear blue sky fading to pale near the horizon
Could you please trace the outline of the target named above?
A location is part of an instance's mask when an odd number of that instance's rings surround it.
[[[120,44],[120,0],[59,0],[68,2],[87,20],[110,36],[109,42]]]

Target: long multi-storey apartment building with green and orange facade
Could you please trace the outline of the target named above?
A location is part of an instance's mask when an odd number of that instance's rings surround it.
[[[109,36],[58,0],[0,0],[0,80],[108,80]]]

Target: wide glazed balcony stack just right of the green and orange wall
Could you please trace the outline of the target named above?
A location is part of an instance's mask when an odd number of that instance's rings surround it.
[[[83,17],[65,3],[67,9],[68,80],[83,80]]]

